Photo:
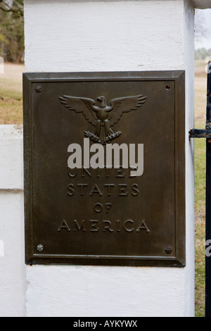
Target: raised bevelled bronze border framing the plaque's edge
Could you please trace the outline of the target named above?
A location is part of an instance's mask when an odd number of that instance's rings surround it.
[[[32,83],[84,81],[173,81],[175,92],[175,256],[60,255],[34,252],[32,205]],[[182,123],[182,125],[181,125]],[[149,132],[150,134],[150,132]],[[93,266],[186,266],[185,71],[23,73],[25,263]]]

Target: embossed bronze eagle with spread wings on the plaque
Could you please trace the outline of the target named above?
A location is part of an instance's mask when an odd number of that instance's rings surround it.
[[[59,96],[61,104],[75,111],[76,113],[82,113],[84,118],[96,127],[94,133],[84,131],[85,137],[94,142],[106,144],[111,142],[116,137],[119,137],[122,132],[113,132],[111,127],[115,125],[123,113],[129,113],[129,111],[135,111],[145,103],[147,96],[124,96],[122,98],[116,98],[110,100],[110,106],[106,104],[105,96],[98,96],[98,106],[96,101],[88,98],[81,98],[77,96]]]

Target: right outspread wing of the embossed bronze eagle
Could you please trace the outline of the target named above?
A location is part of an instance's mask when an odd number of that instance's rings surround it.
[[[115,125],[122,117],[122,113],[128,113],[129,111],[135,111],[145,103],[146,96],[125,96],[123,98],[112,99],[110,101],[110,107],[112,111],[109,113],[110,126]]]

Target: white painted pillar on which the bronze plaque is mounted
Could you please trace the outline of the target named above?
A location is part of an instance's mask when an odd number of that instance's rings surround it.
[[[194,4],[25,0],[27,72],[186,70],[186,267],[27,266],[27,316],[193,316]]]

